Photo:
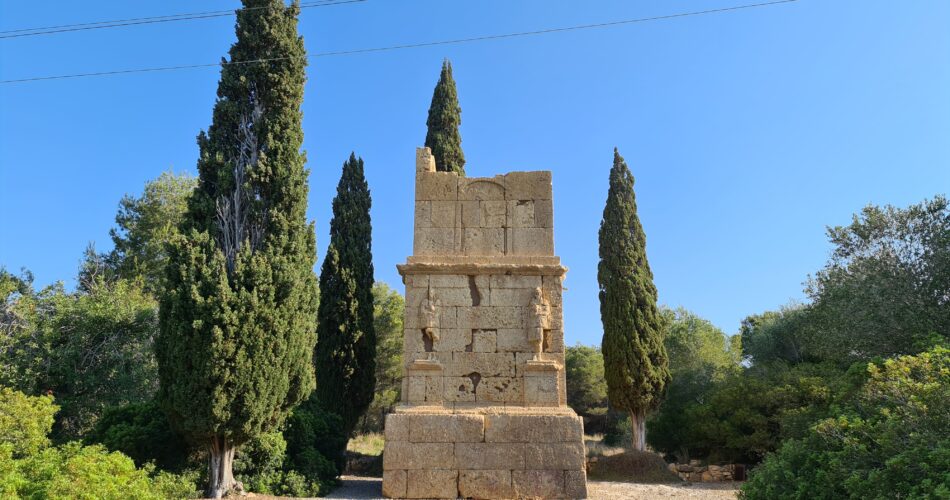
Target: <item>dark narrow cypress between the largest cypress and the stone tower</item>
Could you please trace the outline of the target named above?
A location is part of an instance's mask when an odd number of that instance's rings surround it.
[[[376,387],[371,203],[363,159],[351,154],[333,198],[314,353],[317,400],[343,418],[348,437]]]

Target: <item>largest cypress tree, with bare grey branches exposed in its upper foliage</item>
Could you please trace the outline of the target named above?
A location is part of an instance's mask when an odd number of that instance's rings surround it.
[[[170,422],[210,452],[211,497],[239,486],[236,448],[278,428],[314,386],[299,7],[244,7],[211,126],[198,135],[198,187],[169,245],[155,346]],[[250,60],[265,62],[233,64]]]

